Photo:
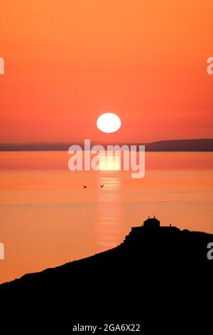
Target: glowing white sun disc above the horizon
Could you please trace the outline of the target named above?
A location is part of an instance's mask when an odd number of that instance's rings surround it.
[[[121,120],[114,113],[104,113],[97,119],[97,128],[104,133],[114,133],[121,127]]]

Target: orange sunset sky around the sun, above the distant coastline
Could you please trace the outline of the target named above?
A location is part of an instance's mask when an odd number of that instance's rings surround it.
[[[2,1],[0,142],[212,138],[212,0]],[[114,134],[97,117],[117,113]]]

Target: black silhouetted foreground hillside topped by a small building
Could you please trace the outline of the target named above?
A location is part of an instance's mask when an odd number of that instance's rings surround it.
[[[141,334],[210,334],[209,242],[213,234],[148,221],[114,249],[1,284],[2,334],[72,334],[77,323],[136,323]]]

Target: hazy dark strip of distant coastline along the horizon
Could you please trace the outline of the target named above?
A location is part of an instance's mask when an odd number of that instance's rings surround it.
[[[67,151],[70,145],[82,145],[82,142],[70,143],[1,143],[0,151]],[[123,145],[123,143],[91,143],[107,145]],[[213,151],[213,139],[202,138],[192,140],[160,140],[152,143],[128,143],[128,145],[146,145],[146,151]]]

